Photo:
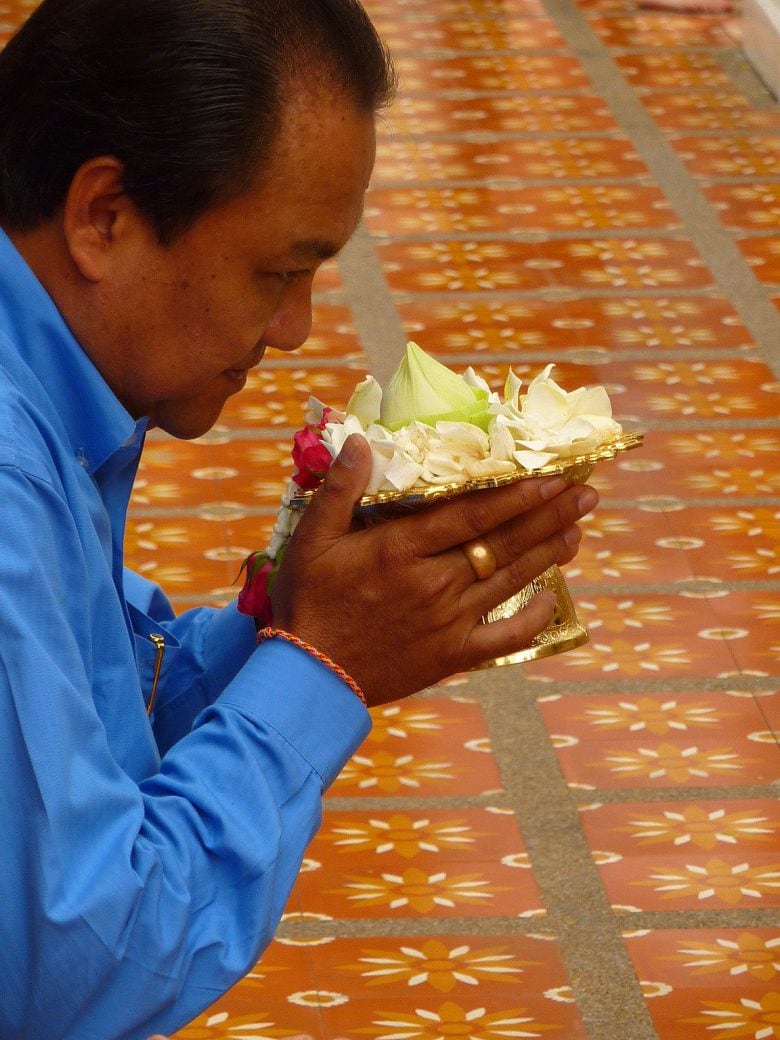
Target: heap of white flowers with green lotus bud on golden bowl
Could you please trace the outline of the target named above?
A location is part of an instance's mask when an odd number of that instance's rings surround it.
[[[553,365],[521,394],[509,370],[503,395],[473,368],[461,376],[416,343],[384,390],[369,375],[355,388],[346,414],[310,398],[307,416],[326,422],[323,441],[334,458],[352,434],[371,448],[366,494],[408,491],[416,485],[465,484],[531,472],[556,459],[584,454],[621,432],[603,387],[567,393],[551,379]]]

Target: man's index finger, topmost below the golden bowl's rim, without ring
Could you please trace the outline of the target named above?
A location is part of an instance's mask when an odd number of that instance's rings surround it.
[[[502,488],[467,492],[399,523],[417,555],[433,556],[528,513],[568,487],[561,476],[526,477]]]

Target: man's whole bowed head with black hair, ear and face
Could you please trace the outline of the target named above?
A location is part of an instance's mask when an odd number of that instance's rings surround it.
[[[393,85],[356,0],[44,0],[0,55],[0,225],[131,415],[200,436],[307,338]]]

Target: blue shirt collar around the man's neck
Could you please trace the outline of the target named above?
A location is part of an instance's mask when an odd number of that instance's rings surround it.
[[[37,384],[89,473],[118,449],[140,444],[149,420],[134,420],[120,402],[1,229],[0,333],[5,367]]]

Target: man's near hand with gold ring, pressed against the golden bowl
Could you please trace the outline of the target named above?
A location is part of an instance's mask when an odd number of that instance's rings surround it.
[[[480,619],[577,553],[576,521],[593,488],[531,477],[357,527],[370,474],[363,437],[345,442],[290,540],[274,587],[274,621],[340,665],[369,705],[398,700],[523,647],[552,618],[551,592],[514,618]],[[476,580],[460,546],[485,539],[497,569]]]

